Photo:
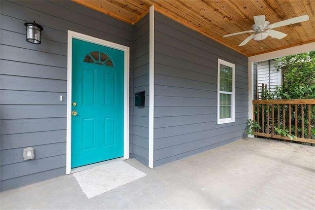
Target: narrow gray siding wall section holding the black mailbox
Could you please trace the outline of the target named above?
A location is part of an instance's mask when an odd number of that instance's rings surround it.
[[[149,164],[149,15],[134,26],[133,93],[145,91],[145,106],[133,106],[133,157]],[[134,96],[132,96],[134,97]],[[134,105],[134,98],[132,98]]]

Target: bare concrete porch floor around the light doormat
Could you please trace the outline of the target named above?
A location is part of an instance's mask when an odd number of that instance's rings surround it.
[[[238,140],[88,199],[73,175],[1,193],[0,209],[315,209],[315,147]]]

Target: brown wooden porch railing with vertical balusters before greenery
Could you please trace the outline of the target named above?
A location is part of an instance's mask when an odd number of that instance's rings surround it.
[[[252,105],[252,120],[261,127],[254,135],[315,143],[315,99],[253,100]],[[294,138],[279,135],[275,129]]]

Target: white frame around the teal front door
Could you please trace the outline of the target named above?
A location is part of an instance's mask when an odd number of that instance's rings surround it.
[[[129,158],[129,47],[68,30],[66,174],[71,174],[72,38],[124,52],[124,159]]]

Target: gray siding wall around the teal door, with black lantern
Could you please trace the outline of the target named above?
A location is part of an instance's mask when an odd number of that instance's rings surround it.
[[[67,30],[130,47],[132,100],[133,26],[71,1],[0,4],[0,165],[1,190],[6,190],[65,174]],[[39,45],[25,40],[24,23],[34,20],[44,28]],[[24,161],[28,146],[35,159]]]

